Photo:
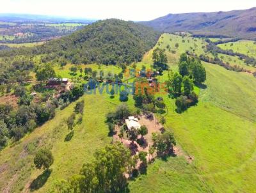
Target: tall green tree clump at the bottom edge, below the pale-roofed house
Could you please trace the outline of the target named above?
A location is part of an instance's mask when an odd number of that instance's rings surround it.
[[[97,150],[94,161],[84,164],[79,174],[56,185],[60,192],[125,192],[124,173],[134,167],[130,151],[121,143]]]

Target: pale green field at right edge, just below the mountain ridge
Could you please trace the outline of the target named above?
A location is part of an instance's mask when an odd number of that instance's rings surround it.
[[[256,58],[256,43],[250,40],[223,43],[219,44],[218,47],[223,50],[234,50],[234,52]]]

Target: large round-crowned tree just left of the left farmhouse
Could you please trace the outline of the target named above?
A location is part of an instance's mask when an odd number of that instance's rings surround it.
[[[52,65],[45,64],[44,66],[38,66],[36,68],[36,80],[40,82],[47,81],[49,78],[56,77],[56,73],[52,68]]]

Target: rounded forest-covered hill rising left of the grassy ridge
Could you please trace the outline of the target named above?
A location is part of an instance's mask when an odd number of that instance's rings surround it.
[[[38,47],[0,52],[1,56],[48,54],[46,61],[60,59],[74,64],[102,63],[116,65],[140,61],[153,47],[159,33],[152,29],[118,19],[101,20],[58,40]]]

